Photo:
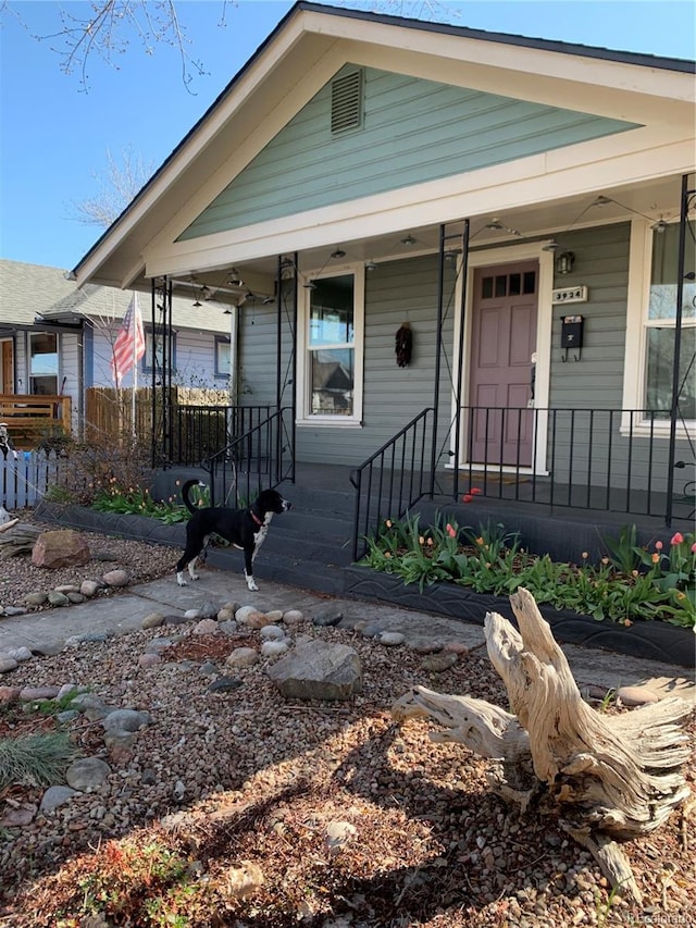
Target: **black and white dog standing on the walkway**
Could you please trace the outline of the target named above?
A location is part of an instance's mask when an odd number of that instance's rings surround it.
[[[198,580],[196,561],[208,546],[212,534],[221,535],[236,548],[244,550],[244,576],[249,590],[256,591],[253,560],[269,532],[271,519],[276,512],[286,512],[291,503],[276,490],[262,490],[257,500],[247,509],[228,509],[207,506],[199,509],[189,499],[191,486],[203,486],[198,480],[189,480],[182,487],[182,498],[192,514],[186,525],[186,549],[176,565],[176,582],[186,586],[184,568],[188,565],[191,580]]]

